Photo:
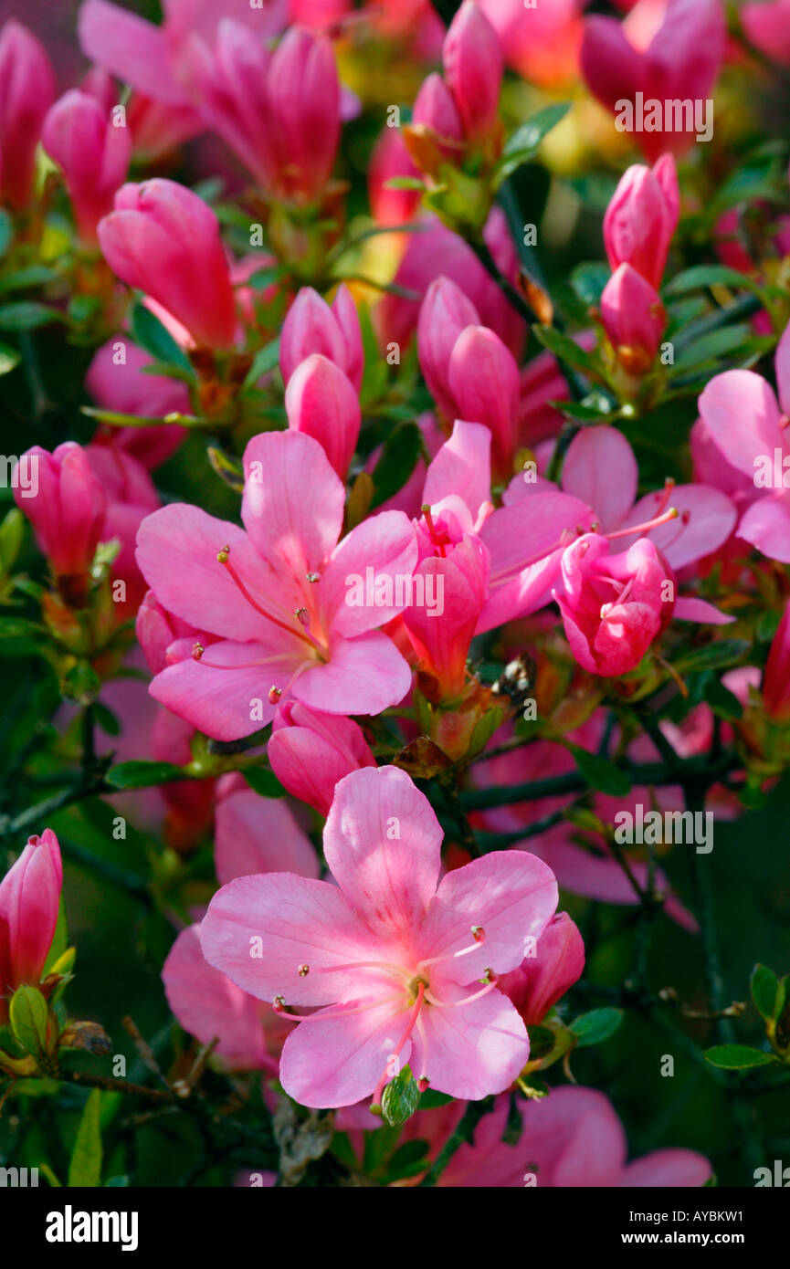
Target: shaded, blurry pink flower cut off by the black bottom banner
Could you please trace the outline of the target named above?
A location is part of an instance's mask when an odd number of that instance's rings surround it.
[[[705,1185],[707,1159],[693,1150],[654,1150],[627,1162],[627,1142],[615,1109],[597,1089],[561,1085],[540,1101],[518,1099],[523,1132],[518,1145],[502,1137],[508,1099],[499,1098],[475,1132],[452,1157],[439,1187],[469,1188],[610,1188]],[[428,1112],[424,1112],[427,1118]]]

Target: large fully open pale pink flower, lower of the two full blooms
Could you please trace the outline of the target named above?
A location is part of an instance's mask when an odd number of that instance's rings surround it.
[[[352,772],[324,831],[337,886],[273,873],[215,895],[203,954],[293,1019],[281,1081],[304,1105],[377,1101],[406,1062],[423,1088],[476,1099],[508,1088],[527,1061],[526,1028],[497,977],[544,930],[556,883],[522,851],[439,883],[441,840],[404,772]],[[297,1022],[291,1005],[319,1008]]]

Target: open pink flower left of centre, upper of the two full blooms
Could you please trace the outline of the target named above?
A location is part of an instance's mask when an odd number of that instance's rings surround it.
[[[217,637],[210,650],[173,643],[152,695],[218,740],[257,731],[291,695],[338,714],[395,704],[409,667],[375,627],[398,607],[349,605],[347,579],[368,567],[409,575],[412,524],[385,511],[338,541],[343,485],[318,442],[296,431],[254,437],[244,470],[245,529],[183,504],[140,528],[137,560],[160,603]],[[394,596],[391,580],[386,589]]]

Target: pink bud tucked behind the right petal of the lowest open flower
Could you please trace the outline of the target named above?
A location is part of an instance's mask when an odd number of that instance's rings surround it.
[[[584,942],[568,912],[556,912],[540,935],[535,954],[499,980],[527,1027],[536,1027],[584,968]]]

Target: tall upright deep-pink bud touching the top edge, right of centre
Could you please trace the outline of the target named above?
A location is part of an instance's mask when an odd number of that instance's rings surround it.
[[[502,86],[499,36],[472,0],[464,0],[445,38],[442,63],[467,141],[490,132]]]

